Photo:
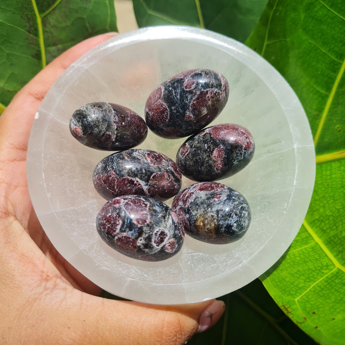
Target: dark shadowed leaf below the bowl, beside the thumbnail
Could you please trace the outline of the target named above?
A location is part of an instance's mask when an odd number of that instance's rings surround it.
[[[280,310],[259,279],[220,299],[226,304],[224,316],[188,345],[316,344]]]

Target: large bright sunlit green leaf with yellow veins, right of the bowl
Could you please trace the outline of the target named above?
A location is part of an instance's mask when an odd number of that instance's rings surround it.
[[[246,44],[300,98],[314,135],[316,181],[297,237],[262,277],[270,295],[322,344],[345,339],[345,7],[270,0]]]

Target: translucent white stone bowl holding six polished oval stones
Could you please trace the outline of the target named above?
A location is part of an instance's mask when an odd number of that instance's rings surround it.
[[[247,234],[227,245],[186,236],[183,249],[157,263],[117,253],[98,236],[106,200],[92,184],[96,164],[111,152],[81,145],[69,132],[75,109],[114,102],[144,116],[151,91],[195,68],[222,73],[230,86],[225,109],[211,125],[231,122],[252,133],[252,162],[220,181],[252,209]],[[175,159],[185,139],[149,131],[139,148]],[[214,32],[164,26],[121,34],[87,52],[54,83],[36,114],[27,176],[34,209],[59,253],[108,292],[155,304],[191,303],[236,290],[272,266],[296,236],[312,195],[315,156],[305,112],[282,76],[256,52]],[[183,187],[192,181],[185,179]],[[168,200],[170,206],[172,200]]]

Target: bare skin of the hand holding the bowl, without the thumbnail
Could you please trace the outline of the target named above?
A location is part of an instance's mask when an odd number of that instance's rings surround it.
[[[101,289],[59,255],[34,213],[26,155],[39,104],[73,61],[114,35],[90,38],[63,53],[0,117],[1,344],[184,344],[215,303],[156,306],[97,297]]]

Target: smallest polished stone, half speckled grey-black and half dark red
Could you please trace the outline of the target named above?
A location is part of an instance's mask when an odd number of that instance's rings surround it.
[[[81,144],[106,151],[126,150],[147,136],[147,126],[136,112],[118,104],[88,103],[78,108],[69,122],[73,137]]]

